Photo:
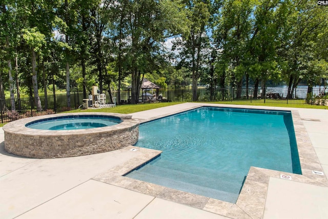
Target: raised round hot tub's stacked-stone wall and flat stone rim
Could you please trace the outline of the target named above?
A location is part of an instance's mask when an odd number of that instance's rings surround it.
[[[109,117],[115,124],[74,130],[42,130],[26,125],[72,117]],[[92,125],[91,125],[92,126]],[[71,127],[71,126],[70,126]],[[117,150],[138,141],[139,122],[119,113],[63,113],[24,118],[6,124],[5,150],[20,156],[55,158],[81,156]]]

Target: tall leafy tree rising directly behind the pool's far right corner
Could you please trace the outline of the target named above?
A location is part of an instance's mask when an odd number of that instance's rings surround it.
[[[312,47],[312,42],[317,41],[318,34],[327,26],[322,19],[327,13],[324,7],[311,1],[286,2],[290,7],[279,55],[283,57],[283,78],[288,83],[288,96],[292,98],[295,88],[306,77],[303,63],[309,61],[309,46]]]

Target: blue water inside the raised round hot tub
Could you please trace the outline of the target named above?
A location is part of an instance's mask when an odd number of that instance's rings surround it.
[[[33,121],[26,124],[26,127],[42,130],[76,130],[113,126],[120,122],[121,120],[110,116],[58,116],[54,118]]]

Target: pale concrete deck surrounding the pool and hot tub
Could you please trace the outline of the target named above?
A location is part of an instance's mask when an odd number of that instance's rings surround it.
[[[202,105],[298,111],[301,125],[306,129],[300,132],[302,141],[312,143],[320,163],[317,167],[325,172],[326,181],[328,110],[185,103],[132,115],[143,122]],[[294,126],[296,129],[297,125]],[[147,184],[122,180],[122,172],[133,168],[136,162],[156,156],[157,151],[141,148],[131,151],[136,147],[128,147],[79,157],[33,159],[7,153],[3,140],[1,130],[0,218],[328,218],[328,187],[321,181],[323,178],[315,178],[309,184],[283,180],[279,175],[268,176],[264,197],[257,197],[254,192],[254,202],[248,200],[238,205],[237,201],[234,205],[204,200],[206,205],[190,207],[193,205],[186,196],[179,200],[168,188],[145,188]],[[254,168],[253,173],[256,171],[265,172]],[[198,203],[193,204],[203,205],[202,198],[197,197]],[[259,199],[264,203],[262,214],[254,214],[242,206],[256,209]]]

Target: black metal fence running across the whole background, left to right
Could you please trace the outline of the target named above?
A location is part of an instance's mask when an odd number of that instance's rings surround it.
[[[264,90],[258,88],[257,95],[254,96],[255,88],[235,89],[224,88],[211,90],[206,87],[197,89],[198,102],[235,102],[238,103],[274,103],[274,104],[294,104],[294,105],[327,105],[328,95],[323,87],[315,87],[308,93],[308,88],[296,88],[289,90],[284,87],[268,87]],[[167,102],[192,102],[192,90],[171,90],[160,91],[161,101]],[[114,93],[117,98],[117,93]],[[107,94],[107,99],[109,96]],[[121,92],[122,103],[128,103],[128,94]],[[11,100],[0,99],[1,122],[10,122],[19,118],[53,114],[68,110],[78,109],[83,103],[83,93],[74,92],[70,95],[71,106],[67,106],[66,94],[40,96],[41,110],[36,109],[34,98],[15,99],[15,110],[11,110]],[[117,98],[118,99],[118,98]],[[117,103],[119,104],[119,103]]]

